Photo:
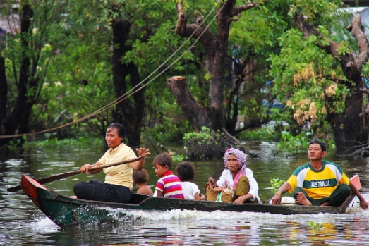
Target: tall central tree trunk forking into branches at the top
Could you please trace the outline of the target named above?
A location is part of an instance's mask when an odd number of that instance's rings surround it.
[[[187,24],[188,16],[183,10],[182,2],[176,4],[177,23],[176,32],[181,37],[193,37],[198,39],[205,49],[205,63],[210,79],[210,121],[212,130],[221,130],[225,126],[224,121],[224,68],[228,50],[229,28],[233,16],[253,8],[256,4],[245,4],[236,7],[236,0],[227,0],[217,12],[217,33],[214,35],[198,18],[195,24]],[[189,93],[189,92],[188,92]],[[181,106],[185,108],[186,106]],[[200,113],[200,112],[193,112]]]

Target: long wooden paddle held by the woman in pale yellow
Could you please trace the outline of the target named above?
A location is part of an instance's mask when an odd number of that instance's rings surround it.
[[[121,164],[127,164],[127,163],[130,163],[130,162],[139,161],[142,158],[143,158],[143,156],[140,156],[138,158],[129,159],[127,161],[119,161],[119,162],[112,163],[112,164],[94,166],[94,167],[90,168],[90,171],[94,171],[94,170],[98,170],[98,169],[102,169],[102,168],[109,168],[111,166],[118,166],[118,165],[121,165]],[[70,176],[74,176],[74,175],[77,175],[77,174],[80,174],[80,173],[81,172],[79,170],[71,171],[71,172],[68,172],[68,173],[59,173],[59,174],[56,174],[54,176],[49,176],[49,177],[46,177],[46,178],[37,179],[36,181],[40,184],[45,184],[45,183],[50,183],[52,181],[60,180],[62,178],[67,178],[67,177],[70,177]],[[10,187],[7,190],[8,190],[8,192],[16,192],[18,190],[22,190],[22,186],[17,185],[17,186],[14,186],[14,187]]]

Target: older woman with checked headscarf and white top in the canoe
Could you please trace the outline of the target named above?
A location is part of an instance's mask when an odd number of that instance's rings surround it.
[[[222,172],[217,187],[214,191],[222,192],[225,188],[231,187],[233,191],[233,203],[259,203],[259,187],[256,182],[253,171],[246,167],[247,154],[239,149],[230,148],[224,153],[224,166],[226,169]]]

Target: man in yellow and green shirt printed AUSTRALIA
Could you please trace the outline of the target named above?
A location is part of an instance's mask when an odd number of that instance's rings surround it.
[[[323,161],[326,149],[325,143],[319,140],[309,143],[310,163],[297,168],[289,180],[279,187],[272,197],[272,204],[279,204],[281,195],[289,191],[294,194],[296,204],[339,207],[352,191],[360,200],[360,206],[368,209],[368,202],[341,168],[333,162]]]

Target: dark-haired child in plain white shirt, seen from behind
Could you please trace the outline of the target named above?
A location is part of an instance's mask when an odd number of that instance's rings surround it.
[[[182,190],[185,199],[205,200],[205,195],[200,196],[198,185],[190,181],[195,178],[195,167],[189,162],[181,162],[176,167],[176,173],[182,181]]]

